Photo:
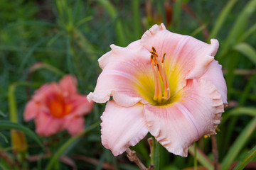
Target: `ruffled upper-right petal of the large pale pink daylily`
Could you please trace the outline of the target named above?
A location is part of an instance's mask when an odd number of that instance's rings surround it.
[[[166,52],[166,72],[171,77],[172,72],[178,72],[178,89],[186,86],[186,79],[201,77],[208,69],[210,62],[218,50],[218,40],[211,40],[208,45],[188,35],[171,33],[164,24],[154,25],[142,36],[142,45],[151,51],[156,48],[159,56]]]

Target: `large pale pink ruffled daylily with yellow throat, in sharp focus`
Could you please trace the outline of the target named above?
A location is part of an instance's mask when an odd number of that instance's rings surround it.
[[[117,156],[150,132],[169,152],[186,157],[193,142],[215,134],[227,105],[223,72],[214,60],[218,45],[171,33],[163,23],[127,47],[110,45],[87,96],[108,101],[102,145]]]

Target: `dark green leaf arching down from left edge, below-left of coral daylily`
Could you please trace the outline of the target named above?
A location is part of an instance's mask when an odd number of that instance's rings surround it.
[[[10,130],[10,129],[21,130],[26,135],[31,137],[33,140],[38,142],[38,144],[44,149],[43,143],[38,138],[38,136],[32,130],[26,128],[25,126],[20,125],[18,123],[10,122],[8,120],[0,120],[0,130],[6,130],[6,129],[8,129],[8,130]]]

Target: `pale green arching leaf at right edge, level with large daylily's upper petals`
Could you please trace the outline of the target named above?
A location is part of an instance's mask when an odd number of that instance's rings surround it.
[[[241,52],[245,57],[247,57],[251,62],[256,65],[256,50],[245,42],[241,42],[235,45],[234,50]]]

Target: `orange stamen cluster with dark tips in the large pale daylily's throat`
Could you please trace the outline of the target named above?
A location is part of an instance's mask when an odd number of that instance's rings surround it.
[[[166,53],[164,53],[161,60],[159,60],[159,55],[157,55],[156,49],[154,47],[152,47],[152,51],[150,53],[151,53],[151,65],[154,72],[154,84],[155,84],[154,101],[161,103],[162,100],[164,101],[169,100],[171,96],[169,81],[167,78],[166,69],[164,67],[164,58]],[[159,75],[161,77],[161,80],[159,78]],[[163,85],[164,85],[164,95],[162,94],[161,81],[163,82]]]

